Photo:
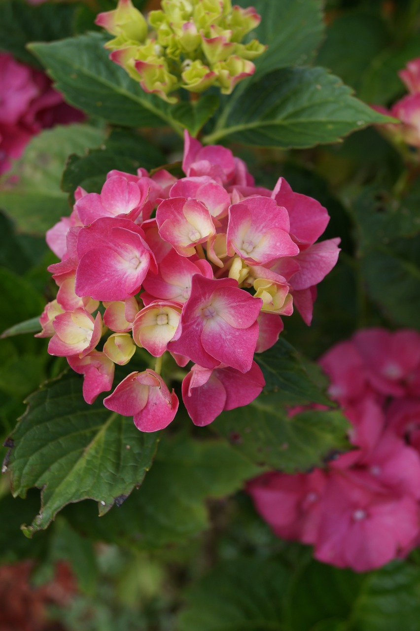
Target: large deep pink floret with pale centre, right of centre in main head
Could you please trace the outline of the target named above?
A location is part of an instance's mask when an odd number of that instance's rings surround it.
[[[230,278],[209,280],[195,274],[181,316],[181,335],[169,350],[204,368],[220,363],[248,372],[258,339],[260,298],[238,289]]]

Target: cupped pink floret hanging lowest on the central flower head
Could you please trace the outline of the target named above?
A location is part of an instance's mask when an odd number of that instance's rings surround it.
[[[141,432],[157,432],[173,421],[179,402],[161,376],[147,369],[125,377],[103,404],[122,416],[133,416]]]

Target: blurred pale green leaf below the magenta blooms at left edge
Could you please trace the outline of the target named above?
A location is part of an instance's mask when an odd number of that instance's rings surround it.
[[[18,184],[0,189],[0,206],[22,232],[45,234],[62,215],[69,215],[60,180],[69,153],[98,146],[103,131],[76,124],[46,129],[30,141],[11,173]]]

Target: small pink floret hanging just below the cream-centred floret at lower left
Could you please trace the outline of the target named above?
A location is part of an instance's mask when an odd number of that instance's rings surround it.
[[[101,351],[91,351],[85,357],[72,355],[67,357],[67,362],[75,372],[85,377],[83,398],[86,403],[93,403],[98,394],[112,388],[115,365]]]

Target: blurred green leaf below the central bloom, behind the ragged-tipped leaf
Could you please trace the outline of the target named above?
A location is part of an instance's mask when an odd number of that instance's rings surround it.
[[[260,473],[221,441],[164,435],[151,471],[120,509],[98,519],[89,505],[67,518],[96,539],[137,548],[181,543],[209,525],[206,500],[226,497]]]

